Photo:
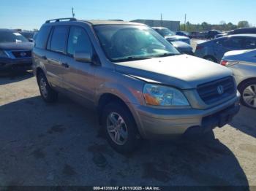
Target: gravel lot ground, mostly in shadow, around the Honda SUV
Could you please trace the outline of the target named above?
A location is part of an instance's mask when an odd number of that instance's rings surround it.
[[[241,107],[208,141],[144,141],[119,155],[94,112],[39,97],[31,72],[0,77],[0,185],[256,186],[256,111]]]

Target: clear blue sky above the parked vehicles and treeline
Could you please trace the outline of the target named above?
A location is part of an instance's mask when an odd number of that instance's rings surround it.
[[[39,28],[45,20],[71,17],[71,7],[79,19],[155,19],[184,23],[237,24],[248,20],[256,26],[255,0],[8,0],[0,4],[0,28]]]

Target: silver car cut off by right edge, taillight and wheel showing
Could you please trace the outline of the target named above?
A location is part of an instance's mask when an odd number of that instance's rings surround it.
[[[221,64],[233,70],[241,103],[256,109],[256,49],[227,52]]]

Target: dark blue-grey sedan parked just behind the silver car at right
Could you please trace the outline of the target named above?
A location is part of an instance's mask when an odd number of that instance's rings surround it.
[[[197,44],[195,55],[219,63],[228,51],[255,48],[256,34],[236,34]]]

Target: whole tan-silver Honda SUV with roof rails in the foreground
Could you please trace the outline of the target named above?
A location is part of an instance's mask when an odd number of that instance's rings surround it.
[[[118,152],[142,139],[212,134],[239,110],[230,69],[181,55],[140,23],[48,20],[33,63],[42,98],[53,102],[64,93],[96,109]]]

